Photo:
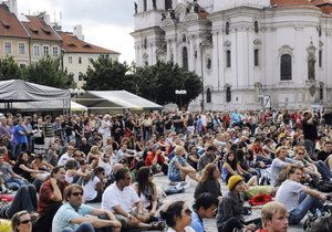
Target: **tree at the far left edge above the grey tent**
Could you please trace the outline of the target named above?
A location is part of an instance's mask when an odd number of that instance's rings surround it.
[[[12,57],[0,59],[0,81],[22,78],[22,70]]]

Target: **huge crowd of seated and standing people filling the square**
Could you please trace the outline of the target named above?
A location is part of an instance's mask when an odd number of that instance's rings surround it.
[[[203,219],[216,218],[220,232],[282,232],[332,211],[331,110],[1,114],[0,123],[0,218],[13,231],[204,232]],[[163,205],[190,182],[194,205]],[[247,201],[261,196],[271,196],[261,217],[247,220]],[[310,230],[331,228],[325,218]]]

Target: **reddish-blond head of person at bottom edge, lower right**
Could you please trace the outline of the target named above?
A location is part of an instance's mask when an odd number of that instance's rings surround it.
[[[256,232],[287,232],[287,209],[277,201],[264,204],[261,209],[262,229]]]

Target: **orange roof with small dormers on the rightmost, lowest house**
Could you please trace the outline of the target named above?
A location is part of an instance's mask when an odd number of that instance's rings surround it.
[[[74,34],[69,32],[56,32],[62,39],[62,48],[70,53],[91,53],[91,54],[120,54],[112,50],[86,43],[79,40]]]

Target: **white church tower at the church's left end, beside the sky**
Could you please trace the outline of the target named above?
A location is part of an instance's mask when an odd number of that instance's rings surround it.
[[[165,32],[162,19],[172,9],[172,0],[136,0],[134,2],[136,65],[153,65],[166,60]]]

